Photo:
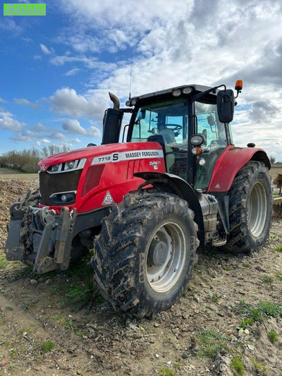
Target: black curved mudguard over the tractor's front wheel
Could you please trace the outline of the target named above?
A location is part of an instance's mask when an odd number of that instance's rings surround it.
[[[154,188],[161,192],[173,193],[187,201],[190,209],[195,213],[195,222],[199,226],[198,238],[200,245],[204,245],[204,221],[201,205],[195,190],[187,181],[177,175],[161,172],[137,172],[134,176],[143,178],[148,185],[152,184]]]

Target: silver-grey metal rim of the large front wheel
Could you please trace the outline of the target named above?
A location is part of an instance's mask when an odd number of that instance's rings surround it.
[[[178,281],[185,264],[185,236],[180,226],[166,223],[155,231],[149,242],[146,274],[154,291],[169,291]]]

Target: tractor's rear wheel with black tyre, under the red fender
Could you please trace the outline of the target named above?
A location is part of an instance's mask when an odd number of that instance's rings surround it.
[[[269,237],[272,198],[269,171],[262,162],[248,162],[229,190],[230,231],[223,250],[252,253]]]

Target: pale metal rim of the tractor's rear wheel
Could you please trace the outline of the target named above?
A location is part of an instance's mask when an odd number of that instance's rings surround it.
[[[262,183],[255,183],[247,200],[247,224],[253,236],[262,234],[266,222],[266,192]]]

